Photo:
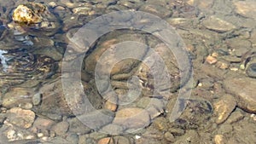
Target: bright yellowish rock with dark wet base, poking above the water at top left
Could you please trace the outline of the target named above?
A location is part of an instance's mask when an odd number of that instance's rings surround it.
[[[42,3],[25,3],[20,4],[14,11],[13,20],[18,26],[12,26],[22,32],[32,32],[33,34],[45,34],[51,36],[61,27],[60,21],[52,14],[49,9]],[[37,30],[37,31],[35,31]]]

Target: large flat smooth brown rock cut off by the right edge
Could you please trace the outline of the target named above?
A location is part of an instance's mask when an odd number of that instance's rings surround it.
[[[256,79],[255,78],[226,78],[224,89],[236,95],[237,104],[248,112],[256,113]]]

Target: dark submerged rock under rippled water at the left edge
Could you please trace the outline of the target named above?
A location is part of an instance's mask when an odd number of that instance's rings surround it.
[[[13,86],[24,84],[23,87],[34,87],[51,78],[57,70],[55,60],[44,55],[34,55],[27,49],[12,49],[3,55],[4,60],[0,61],[0,87],[4,85]],[[4,69],[6,67],[6,69]]]

